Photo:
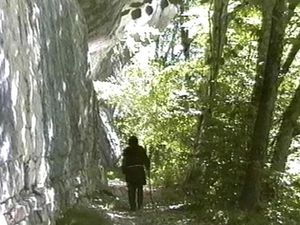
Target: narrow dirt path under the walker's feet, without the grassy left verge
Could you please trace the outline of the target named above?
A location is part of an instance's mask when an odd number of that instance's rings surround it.
[[[106,193],[106,199],[95,198],[93,204],[95,207],[101,208],[114,225],[201,225],[195,215],[185,210],[184,204],[164,203],[158,191],[153,194],[156,203],[151,204],[147,187],[145,187],[143,210],[130,212],[128,211],[125,183],[111,181],[109,187],[111,193]]]

